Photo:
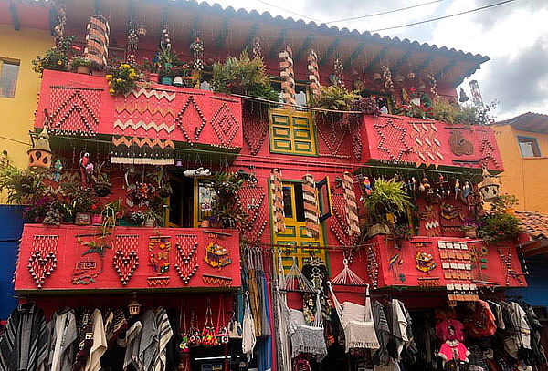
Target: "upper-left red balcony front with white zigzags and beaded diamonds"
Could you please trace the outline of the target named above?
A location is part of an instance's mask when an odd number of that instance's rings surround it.
[[[240,99],[205,90],[141,83],[112,97],[105,77],[45,70],[36,128],[45,110],[51,134],[107,135],[114,157],[190,148],[238,153],[243,145]]]

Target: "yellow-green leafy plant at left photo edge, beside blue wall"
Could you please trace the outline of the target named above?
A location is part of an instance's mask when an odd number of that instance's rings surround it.
[[[41,197],[44,187],[37,173],[6,165],[0,168],[0,191],[7,192],[7,203],[24,204]]]

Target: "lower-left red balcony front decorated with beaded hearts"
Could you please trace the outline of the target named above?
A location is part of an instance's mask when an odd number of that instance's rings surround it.
[[[79,290],[229,291],[241,284],[234,230],[26,224],[19,293]]]

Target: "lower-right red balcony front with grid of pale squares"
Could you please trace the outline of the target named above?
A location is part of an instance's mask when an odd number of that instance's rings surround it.
[[[513,244],[486,246],[482,240],[426,236],[397,243],[375,236],[368,243],[372,246],[368,256],[375,261],[368,266],[378,266],[378,270],[368,269],[369,278],[378,288],[447,289],[451,284],[464,284],[470,290],[470,285],[476,289],[527,286]]]

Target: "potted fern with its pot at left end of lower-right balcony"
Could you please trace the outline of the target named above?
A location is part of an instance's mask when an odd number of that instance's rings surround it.
[[[404,190],[404,183],[394,179],[375,180],[371,194],[367,195],[364,204],[369,211],[371,222],[368,228],[369,237],[376,234],[390,234],[386,215],[397,215],[411,206],[409,196]]]

